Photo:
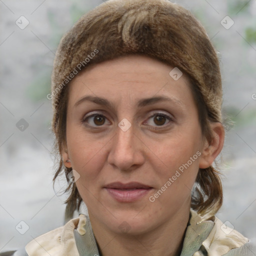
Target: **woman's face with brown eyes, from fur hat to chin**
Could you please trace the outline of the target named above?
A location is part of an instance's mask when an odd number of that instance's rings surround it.
[[[90,217],[113,232],[153,230],[189,211],[204,139],[188,80],[172,69],[129,55],[68,85],[62,156]]]

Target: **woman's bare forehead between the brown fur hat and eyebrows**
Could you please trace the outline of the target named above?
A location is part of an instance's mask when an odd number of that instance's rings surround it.
[[[158,95],[171,96],[177,101],[187,100],[189,94],[192,97],[188,78],[177,67],[141,55],[122,56],[88,66],[69,85],[71,104],[84,95],[129,103]]]

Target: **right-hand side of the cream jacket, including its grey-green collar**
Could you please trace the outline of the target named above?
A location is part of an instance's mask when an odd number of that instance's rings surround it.
[[[201,216],[191,210],[181,256],[252,256],[256,255],[255,244],[216,216]]]

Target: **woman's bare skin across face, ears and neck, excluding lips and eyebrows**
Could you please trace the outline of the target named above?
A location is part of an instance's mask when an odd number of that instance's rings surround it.
[[[209,144],[188,80],[184,74],[174,80],[169,75],[172,68],[146,56],[122,56],[89,66],[68,85],[62,158],[80,175],[76,185],[104,256],[179,255],[198,168],[210,166],[222,148],[222,125],[211,124],[214,138]],[[106,98],[114,107],[77,103],[86,95]],[[171,101],[136,105],[141,98],[160,95]],[[95,112],[103,119],[86,119]],[[157,119],[159,113],[171,120]],[[118,126],[123,118],[131,124],[126,131]],[[149,201],[198,151],[200,156],[155,201]],[[113,181],[137,181],[152,189],[137,201],[118,202],[104,188]]]

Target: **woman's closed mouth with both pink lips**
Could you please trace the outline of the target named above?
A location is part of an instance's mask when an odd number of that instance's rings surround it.
[[[113,182],[104,186],[104,189],[118,202],[133,202],[144,197],[152,187],[138,182]]]

